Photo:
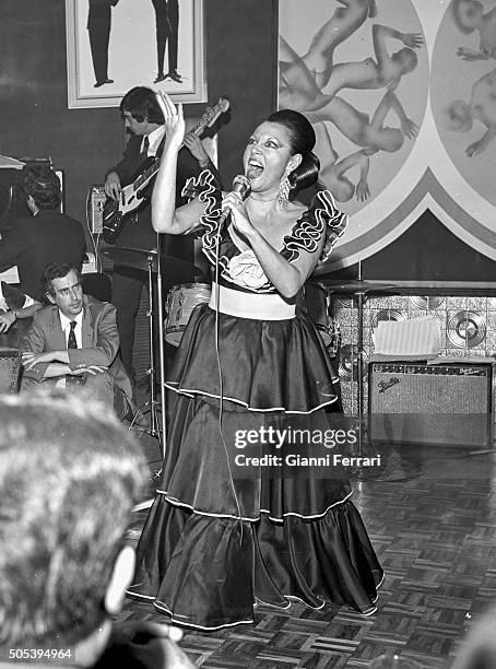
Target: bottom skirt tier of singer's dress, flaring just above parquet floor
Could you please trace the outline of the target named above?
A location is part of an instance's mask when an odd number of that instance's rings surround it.
[[[257,523],[215,518],[157,496],[131,595],[153,599],[173,622],[215,630],[253,622],[257,602],[318,609],[347,605],[375,612],[382,570],[351,502],[317,520],[262,514]]]

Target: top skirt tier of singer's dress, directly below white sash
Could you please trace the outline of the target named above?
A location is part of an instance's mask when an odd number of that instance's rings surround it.
[[[219,398],[220,361],[223,397],[246,408],[308,413],[339,402],[338,374],[305,315],[269,321],[220,314],[219,360],[215,329],[215,312],[206,304],[196,307],[176,353],[169,388]]]

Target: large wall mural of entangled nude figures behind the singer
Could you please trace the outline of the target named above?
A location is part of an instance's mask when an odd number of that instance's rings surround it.
[[[350,214],[327,268],[427,208],[496,259],[496,0],[285,0],[279,19],[279,107],[312,122],[321,186]]]

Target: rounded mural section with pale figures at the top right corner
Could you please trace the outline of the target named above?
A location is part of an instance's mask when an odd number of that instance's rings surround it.
[[[496,204],[496,2],[491,4],[485,13],[477,0],[452,0],[436,38],[430,97],[454,167]]]

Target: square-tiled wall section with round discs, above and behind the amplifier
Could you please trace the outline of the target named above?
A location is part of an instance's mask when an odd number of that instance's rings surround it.
[[[341,330],[338,359],[343,404],[346,413],[357,412],[356,298],[331,296],[331,315]],[[441,355],[484,357],[496,354],[496,297],[388,295],[367,297],[364,305],[364,361],[374,353],[373,332],[379,320],[402,320],[434,316],[441,331]],[[355,361],[354,364],[352,362]],[[367,371],[364,373],[364,408],[367,410]]]

